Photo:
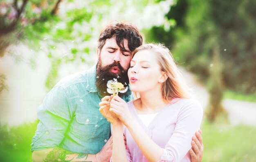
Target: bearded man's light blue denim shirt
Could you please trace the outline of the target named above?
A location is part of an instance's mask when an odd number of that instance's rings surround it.
[[[101,98],[96,65],[58,82],[38,108],[40,122],[31,151],[59,146],[74,153],[98,153],[110,136],[110,122],[99,112]],[[133,99],[130,89],[123,99]]]

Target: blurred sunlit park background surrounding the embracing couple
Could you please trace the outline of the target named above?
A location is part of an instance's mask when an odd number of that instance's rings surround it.
[[[36,110],[130,22],[163,42],[204,109],[203,162],[256,161],[256,0],[0,0],[0,161],[31,162]]]

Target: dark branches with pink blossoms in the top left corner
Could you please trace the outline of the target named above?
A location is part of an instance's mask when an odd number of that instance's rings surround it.
[[[47,0],[0,2],[0,58],[4,56],[11,44],[17,44],[25,38],[27,28],[37,22],[45,22],[49,19],[49,15],[56,15],[60,2],[61,0],[56,2]],[[31,8],[27,7],[28,5]],[[5,75],[0,73],[0,92],[7,89],[5,80]]]

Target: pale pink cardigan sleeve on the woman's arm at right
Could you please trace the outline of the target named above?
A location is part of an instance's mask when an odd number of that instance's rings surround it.
[[[202,106],[196,100],[184,104],[178,116],[171,138],[163,148],[158,162],[180,162],[191,149],[192,136],[200,128]]]

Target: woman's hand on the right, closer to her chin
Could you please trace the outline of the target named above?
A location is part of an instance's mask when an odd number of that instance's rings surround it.
[[[126,126],[133,119],[128,109],[128,105],[118,95],[115,95],[110,101],[109,110],[112,114],[119,118],[119,120],[121,120],[121,122]]]

